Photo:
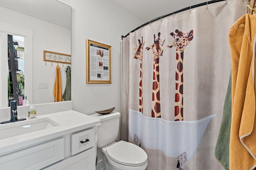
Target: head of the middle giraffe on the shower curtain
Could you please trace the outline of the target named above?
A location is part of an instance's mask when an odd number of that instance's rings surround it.
[[[162,46],[164,45],[165,40],[162,41],[160,39],[160,34],[161,33],[158,33],[158,39],[156,39],[156,35],[154,34],[154,43],[152,45],[146,47],[146,49],[145,49],[147,51],[152,49],[154,57],[161,57],[164,52],[164,49],[162,48]]]

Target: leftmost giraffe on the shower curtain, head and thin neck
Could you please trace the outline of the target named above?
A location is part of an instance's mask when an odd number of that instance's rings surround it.
[[[140,39],[138,39],[138,47],[134,48],[134,58],[135,59],[140,59],[140,83],[139,83],[139,111],[143,114],[143,94],[142,94],[142,58],[143,58],[143,37],[141,37],[141,42]]]

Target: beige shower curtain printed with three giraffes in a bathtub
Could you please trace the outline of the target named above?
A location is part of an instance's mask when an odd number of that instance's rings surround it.
[[[122,39],[120,137],[147,152],[147,170],[223,169],[214,149],[231,71],[228,31],[246,5],[208,4]]]

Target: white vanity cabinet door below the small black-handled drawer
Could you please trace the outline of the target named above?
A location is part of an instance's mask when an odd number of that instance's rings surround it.
[[[95,170],[94,147],[70,156],[60,162],[44,168],[43,170]]]

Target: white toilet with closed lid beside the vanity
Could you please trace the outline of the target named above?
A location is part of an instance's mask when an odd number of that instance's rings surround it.
[[[105,164],[105,170],[146,169],[148,155],[142,148],[126,141],[115,142],[120,123],[119,112],[96,113],[90,116],[101,121],[101,124],[96,126],[96,135],[98,135],[97,148],[104,153],[102,159]]]

